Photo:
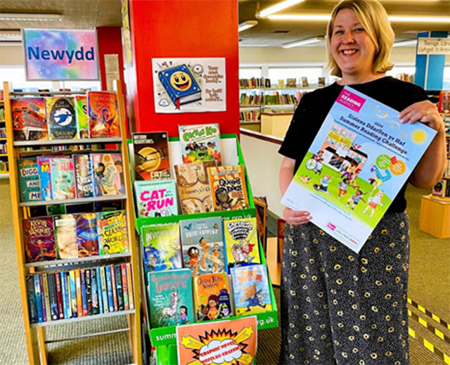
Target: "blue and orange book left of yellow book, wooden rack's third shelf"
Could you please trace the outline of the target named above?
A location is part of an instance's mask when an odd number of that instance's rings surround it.
[[[78,257],[98,255],[97,214],[75,214]]]

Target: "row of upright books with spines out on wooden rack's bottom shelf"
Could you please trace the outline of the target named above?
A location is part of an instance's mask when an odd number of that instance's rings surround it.
[[[27,276],[30,323],[134,309],[131,264]]]

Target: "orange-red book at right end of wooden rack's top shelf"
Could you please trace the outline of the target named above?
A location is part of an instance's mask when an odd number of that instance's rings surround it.
[[[88,91],[87,111],[91,138],[120,136],[119,107],[114,92]]]

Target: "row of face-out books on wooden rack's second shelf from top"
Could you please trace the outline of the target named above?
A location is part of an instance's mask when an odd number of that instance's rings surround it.
[[[120,153],[20,158],[18,176],[21,202],[124,194]]]

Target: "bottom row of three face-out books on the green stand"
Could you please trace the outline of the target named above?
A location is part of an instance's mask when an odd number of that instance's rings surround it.
[[[158,328],[272,310],[267,267],[252,264],[192,276],[188,269],[148,273],[150,326]]]

